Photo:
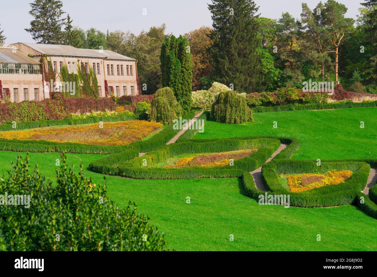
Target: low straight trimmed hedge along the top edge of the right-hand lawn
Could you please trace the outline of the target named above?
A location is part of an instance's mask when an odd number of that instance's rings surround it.
[[[285,112],[289,110],[325,110],[325,109],[343,109],[343,108],[365,108],[377,107],[377,101],[356,103],[352,101],[333,102],[328,104],[288,104],[284,106],[274,107],[254,107],[251,108],[253,112]]]

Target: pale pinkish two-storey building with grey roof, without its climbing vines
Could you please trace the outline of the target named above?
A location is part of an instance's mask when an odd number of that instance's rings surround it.
[[[51,61],[57,83],[60,81],[59,73],[63,64],[67,66],[69,73],[77,73],[78,66],[84,64],[85,70],[89,71],[89,67],[91,67],[96,74],[98,80],[98,95],[100,97],[106,96],[105,80],[107,81],[109,92],[112,87],[115,96],[138,94],[136,81],[137,60],[113,51],[101,49],[78,49],[67,45],[37,43],[13,43],[6,49],[8,54],[11,52],[12,54],[16,53],[18,56],[29,58],[30,60],[28,60],[28,64],[32,64],[33,68],[41,67],[42,57],[46,57],[48,61]],[[32,63],[32,61],[34,61],[34,63]],[[1,72],[2,63],[0,56],[0,80],[2,80],[3,83],[3,90],[9,87],[12,101],[20,102],[24,100],[34,100],[30,97],[24,98],[23,95],[18,97],[19,94],[17,94],[17,91],[23,92],[23,89],[25,89],[26,85],[29,83],[32,83],[32,85],[29,86],[28,89],[32,91],[34,91],[33,89],[37,88],[38,85],[40,93],[38,100],[49,98],[51,86],[48,86],[44,81],[45,78],[42,75],[43,72],[40,71],[38,74],[35,74],[35,76],[26,76],[29,74],[21,74],[18,71],[9,74],[8,70],[6,76],[4,75],[3,77]],[[28,67],[30,66],[28,65]],[[11,76],[9,77],[9,75]],[[32,79],[29,83],[28,78]],[[58,87],[57,90],[59,90]],[[14,93],[16,94],[14,95]]]

